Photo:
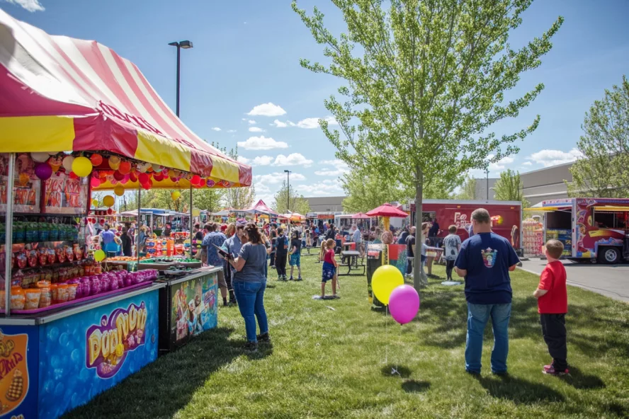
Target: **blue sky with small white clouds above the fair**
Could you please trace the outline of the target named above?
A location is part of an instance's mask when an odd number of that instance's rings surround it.
[[[299,3],[307,10],[317,5],[334,33],[344,30],[329,1]],[[340,83],[300,67],[302,57],[321,59],[322,48],[290,9],[290,0],[0,0],[0,7],[47,33],[113,48],[140,67],[172,108],[176,49],[167,44],[191,40],[194,48],[181,54],[186,125],[209,142],[228,148],[240,143],[239,154],[254,166],[256,192],[269,204],[284,169],[293,171],[291,184],[305,196],[341,193],[338,176],[346,168],[334,162],[334,147],[316,122],[329,116],[323,101]],[[519,143],[518,155],[492,165],[490,176],[504,168],[523,172],[572,161],[584,113],[629,72],[625,0],[537,0],[511,44],[541,35],[560,15],[565,23],[553,50],[509,95],[539,82],[545,90],[518,118],[495,130],[520,130],[537,114],[540,126]]]

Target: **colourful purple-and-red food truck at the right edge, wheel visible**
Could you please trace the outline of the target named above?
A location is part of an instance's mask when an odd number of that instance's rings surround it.
[[[565,198],[541,202],[544,242],[564,243],[564,256],[577,261],[629,260],[629,199]]]

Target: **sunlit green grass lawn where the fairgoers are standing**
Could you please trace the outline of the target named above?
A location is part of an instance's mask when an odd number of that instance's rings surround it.
[[[341,277],[341,299],[317,301],[321,265],[302,256],[303,282],[269,271],[265,301],[272,345],[247,355],[237,308],[219,327],[160,357],[67,418],[627,418],[629,305],[569,287],[572,377],[541,373],[538,277],[511,274],[509,377],[465,374],[463,286],[421,292],[419,315],[399,326],[370,310],[364,276]],[[385,363],[387,357],[387,363]],[[390,374],[398,365],[402,377]]]

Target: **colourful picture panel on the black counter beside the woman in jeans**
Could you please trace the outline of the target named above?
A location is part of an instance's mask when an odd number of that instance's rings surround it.
[[[216,274],[173,285],[171,307],[175,343],[216,327]]]

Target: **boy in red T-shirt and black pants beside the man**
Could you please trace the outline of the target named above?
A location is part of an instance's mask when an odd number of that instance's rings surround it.
[[[569,374],[566,346],[566,313],[568,292],[566,289],[566,269],[559,260],[563,253],[563,243],[558,240],[546,242],[548,264],[540,275],[540,285],[533,292],[538,299],[538,313],[542,323],[542,334],[548,345],[553,363],[545,365],[543,373]]]

